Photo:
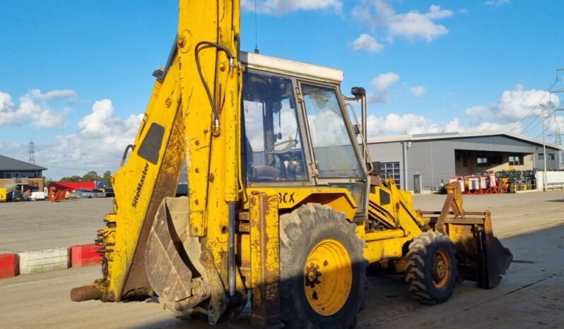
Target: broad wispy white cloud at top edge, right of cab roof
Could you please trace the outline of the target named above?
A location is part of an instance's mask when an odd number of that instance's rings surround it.
[[[394,8],[384,0],[362,0],[352,11],[356,20],[375,29],[384,27],[389,37],[404,37],[406,40],[425,40],[431,42],[437,37],[446,35],[449,30],[435,23],[435,20],[449,18],[453,11],[442,9],[435,4],[427,13],[409,11],[396,13]]]

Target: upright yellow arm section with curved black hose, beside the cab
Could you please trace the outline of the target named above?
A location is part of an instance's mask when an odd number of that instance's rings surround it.
[[[213,8],[211,10],[211,8]],[[240,97],[242,78],[237,67],[240,34],[239,1],[180,1],[178,25],[182,112],[186,121],[187,174],[192,236],[203,237],[218,271],[227,283],[228,203],[239,194]],[[201,81],[196,67],[196,44],[215,42],[235,56],[216,47],[199,47]],[[214,126],[213,111],[204,83],[208,85],[219,117]],[[198,231],[196,232],[196,228]]]

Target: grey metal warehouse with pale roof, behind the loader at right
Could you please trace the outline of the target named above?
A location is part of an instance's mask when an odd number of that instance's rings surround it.
[[[516,170],[542,170],[542,140],[507,131],[428,133],[368,139],[372,161],[394,177],[401,189],[433,191],[455,175]],[[546,143],[546,168],[558,169],[562,147]],[[407,179],[406,179],[407,178]]]

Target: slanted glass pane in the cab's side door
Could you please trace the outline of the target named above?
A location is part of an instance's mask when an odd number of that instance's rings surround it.
[[[301,87],[319,178],[363,177],[336,90]]]

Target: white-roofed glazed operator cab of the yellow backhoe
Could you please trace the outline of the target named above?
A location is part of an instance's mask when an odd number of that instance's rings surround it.
[[[342,71],[243,53],[247,186],[348,189],[364,213],[366,168],[344,106]]]

